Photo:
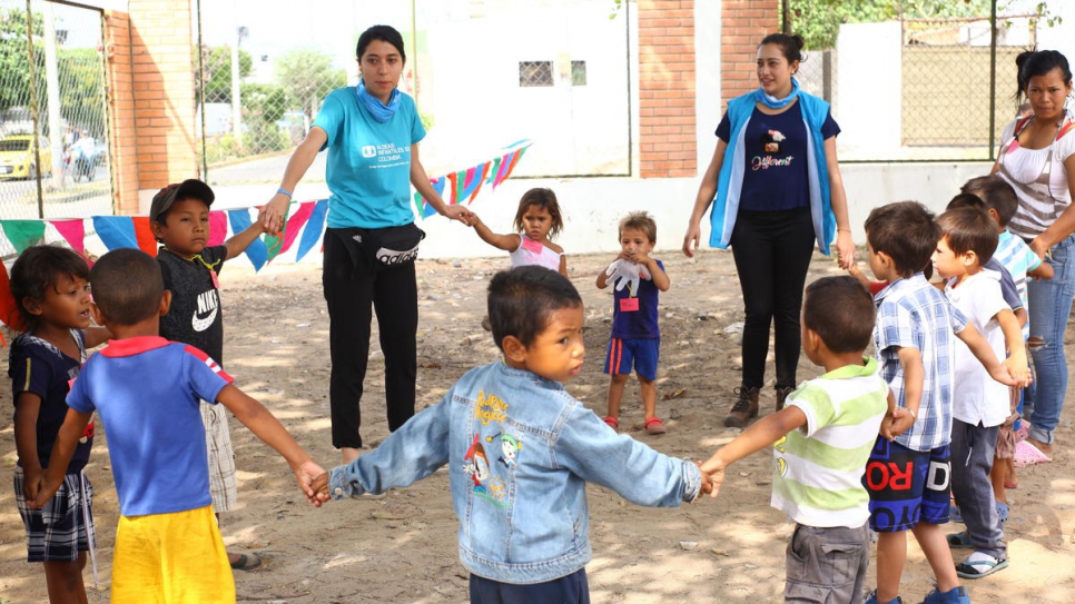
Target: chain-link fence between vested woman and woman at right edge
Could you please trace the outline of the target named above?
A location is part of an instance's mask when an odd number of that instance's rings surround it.
[[[841,161],[988,160],[1017,111],[1015,57],[1034,48],[1042,14],[999,14],[989,0],[787,0],[807,39],[799,80],[832,103]],[[910,11],[908,7],[915,6]]]

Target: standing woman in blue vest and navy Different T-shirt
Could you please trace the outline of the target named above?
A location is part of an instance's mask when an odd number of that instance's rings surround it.
[[[724,417],[729,427],[742,427],[758,415],[772,323],[777,409],[795,390],[799,311],[815,241],[828,255],[835,235],[840,267],[855,261],[836,159],[840,127],[829,103],[799,90],[793,78],[802,60],[802,38],[767,36],[757,57],[760,87],[728,102],[683,238],[683,254],[692,258],[702,215],[712,204],[709,244],[730,246],[739,271],[746,307],[742,385]]]

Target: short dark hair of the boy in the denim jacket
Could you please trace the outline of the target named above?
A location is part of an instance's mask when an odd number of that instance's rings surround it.
[[[553,313],[581,305],[579,290],[566,277],[540,266],[502,270],[489,283],[489,323],[501,350],[507,336],[530,346]]]

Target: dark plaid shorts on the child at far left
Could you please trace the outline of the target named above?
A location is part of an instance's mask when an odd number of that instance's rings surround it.
[[[14,499],[26,527],[27,562],[75,562],[93,535],[93,486],[85,474],[68,474],[41,509],[22,494],[22,466],[14,468]]]

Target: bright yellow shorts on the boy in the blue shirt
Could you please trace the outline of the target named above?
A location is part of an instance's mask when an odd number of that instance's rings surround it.
[[[112,604],[235,603],[235,578],[213,507],[120,516]]]

